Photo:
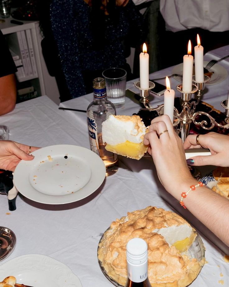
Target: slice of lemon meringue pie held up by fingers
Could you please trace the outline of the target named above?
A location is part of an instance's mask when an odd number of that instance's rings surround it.
[[[147,152],[148,146],[143,144],[146,132],[148,128],[137,115],[110,115],[102,123],[105,149],[128,158],[140,159]]]

